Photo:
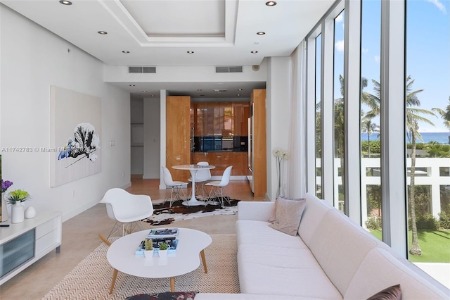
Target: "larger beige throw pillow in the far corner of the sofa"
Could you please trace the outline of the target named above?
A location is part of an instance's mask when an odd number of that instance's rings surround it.
[[[297,235],[298,226],[302,219],[306,199],[286,199],[279,197],[275,201],[275,220],[269,227],[288,235]],[[270,222],[271,219],[269,219]]]

